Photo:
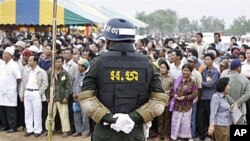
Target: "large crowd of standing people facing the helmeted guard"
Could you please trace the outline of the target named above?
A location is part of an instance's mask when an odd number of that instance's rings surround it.
[[[169,96],[164,113],[152,121],[154,140],[229,140],[229,126],[250,124],[250,38],[231,38],[227,47],[219,33],[205,43],[166,38],[138,39],[136,52],[148,56],[160,73]],[[52,65],[51,37],[42,33],[1,37],[0,130],[25,131],[24,136],[47,135]],[[238,41],[237,41],[238,40]],[[91,36],[59,35],[56,40],[53,131],[62,137],[88,137],[93,121],[81,109],[78,95],[91,60],[104,52],[106,40]],[[231,110],[241,118],[233,123]]]

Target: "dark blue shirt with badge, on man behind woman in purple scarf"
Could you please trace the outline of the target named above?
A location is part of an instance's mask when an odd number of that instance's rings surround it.
[[[202,100],[211,100],[214,93],[216,93],[216,86],[220,79],[220,73],[216,68],[208,70],[207,67],[201,72],[202,76]]]

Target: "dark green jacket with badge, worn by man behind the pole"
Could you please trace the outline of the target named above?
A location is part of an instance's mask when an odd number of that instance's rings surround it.
[[[51,71],[48,73],[49,84],[51,83]],[[59,73],[55,74],[55,93],[54,101],[62,101],[64,98],[68,99],[71,93],[71,81],[68,72],[64,69]],[[50,97],[50,89],[46,91],[46,98]]]

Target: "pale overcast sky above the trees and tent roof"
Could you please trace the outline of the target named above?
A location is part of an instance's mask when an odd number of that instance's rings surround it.
[[[137,12],[153,12],[158,9],[175,10],[180,17],[200,19],[203,15],[224,19],[228,27],[233,19],[246,16],[250,19],[250,0],[82,0],[102,6],[110,6],[131,16]]]

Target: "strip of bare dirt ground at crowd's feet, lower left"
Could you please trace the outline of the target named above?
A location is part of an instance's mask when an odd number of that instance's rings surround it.
[[[82,137],[67,137],[62,138],[61,134],[55,134],[52,137],[52,141],[90,141],[91,138]],[[0,132],[0,141],[47,141],[47,137],[35,137],[31,135],[29,137],[24,137],[24,132],[16,132],[12,134],[7,134],[5,132]]]

